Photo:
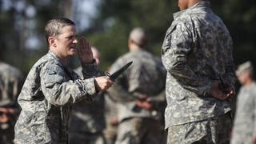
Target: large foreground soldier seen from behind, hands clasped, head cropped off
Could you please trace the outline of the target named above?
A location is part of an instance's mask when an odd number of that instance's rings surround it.
[[[229,143],[232,38],[207,0],[178,0],[178,6],[162,44],[167,143]]]

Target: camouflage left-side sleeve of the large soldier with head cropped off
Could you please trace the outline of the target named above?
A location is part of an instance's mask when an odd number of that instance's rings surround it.
[[[187,26],[179,22],[171,26],[166,32],[162,45],[162,62],[169,72],[182,87],[203,95],[210,90],[209,78],[200,77],[191,70],[187,58],[192,53],[192,34]]]

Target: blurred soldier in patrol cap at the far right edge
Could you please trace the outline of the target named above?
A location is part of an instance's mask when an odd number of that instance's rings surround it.
[[[251,62],[238,66],[238,81],[242,84],[237,98],[232,144],[256,143],[256,83]]]

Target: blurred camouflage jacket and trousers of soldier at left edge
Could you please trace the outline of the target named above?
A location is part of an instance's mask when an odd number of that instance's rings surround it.
[[[14,66],[0,62],[0,108],[11,108],[18,112],[17,96],[21,89],[22,74]],[[11,143],[14,139],[16,115],[7,123],[0,123],[0,142]]]

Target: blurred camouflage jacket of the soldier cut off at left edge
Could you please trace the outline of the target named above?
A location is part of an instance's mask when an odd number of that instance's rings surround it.
[[[21,85],[21,72],[14,66],[0,62],[0,107],[15,105]]]

